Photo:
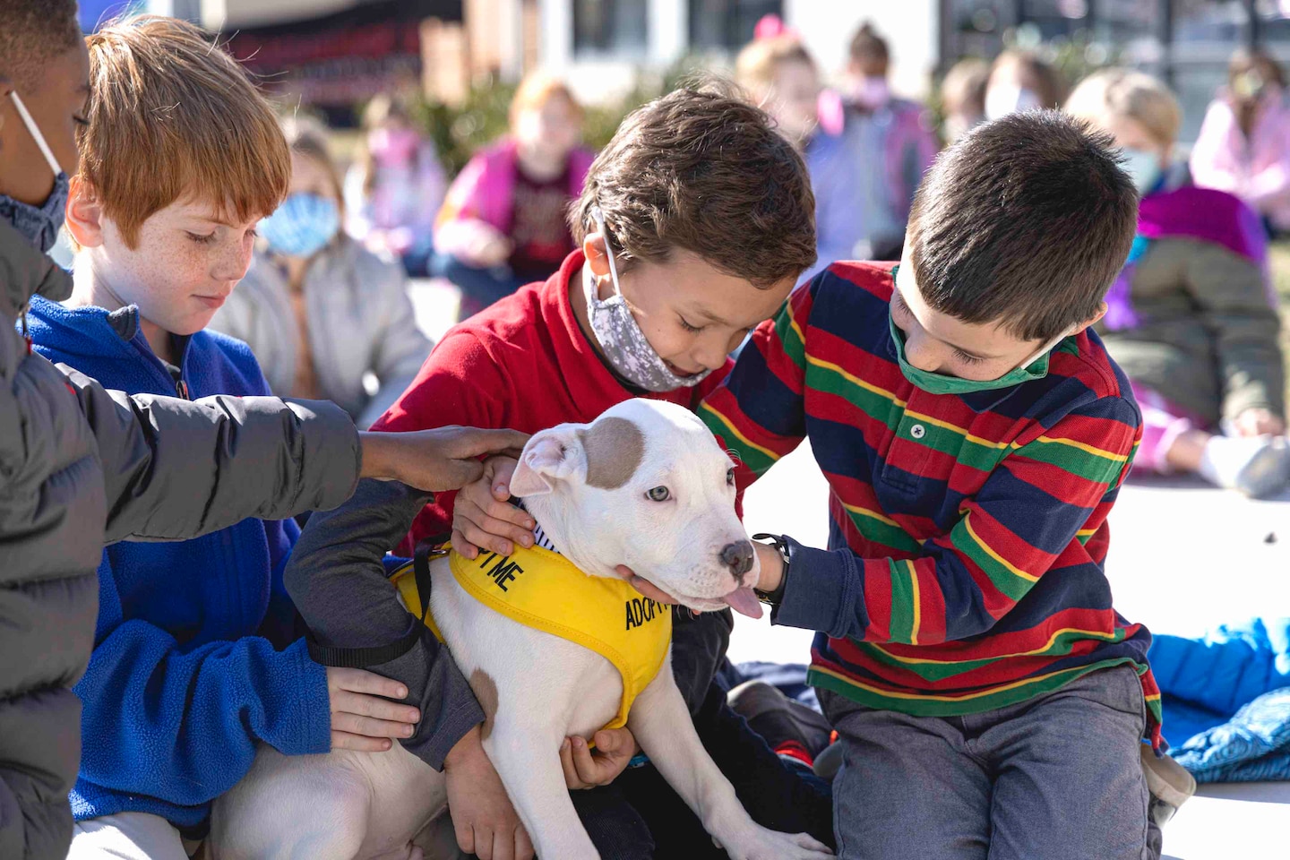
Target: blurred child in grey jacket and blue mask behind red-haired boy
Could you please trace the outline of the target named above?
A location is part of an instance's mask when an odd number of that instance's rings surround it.
[[[431,343],[417,327],[402,268],[341,228],[326,129],[293,119],[284,132],[288,197],[261,222],[250,269],[210,327],[250,346],[276,395],[332,400],[366,429],[417,375]]]

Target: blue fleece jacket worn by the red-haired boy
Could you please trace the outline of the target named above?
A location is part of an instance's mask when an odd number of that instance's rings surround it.
[[[39,297],[37,352],[129,393],[175,395],[135,308],[64,308]],[[246,344],[213,331],[177,339],[192,398],[268,395]],[[183,392],[181,392],[183,393]],[[152,812],[194,826],[250,768],[257,741],[286,754],[330,747],[326,674],[295,636],[283,569],[299,529],[244,520],[181,543],[117,543],[98,569],[76,820]]]

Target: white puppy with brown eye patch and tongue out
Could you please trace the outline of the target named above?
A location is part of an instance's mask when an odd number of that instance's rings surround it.
[[[760,614],[751,589],[756,554],[734,511],[733,464],[689,410],[631,400],[592,424],[537,433],[511,487],[584,574],[619,588],[615,567],[627,565],[691,609]],[[486,585],[516,584],[513,570],[485,566],[493,571]],[[431,563],[431,580],[433,619],[486,714],[484,749],[538,856],[599,857],[565,788],[559,748],[615,718],[626,676],[601,652],[494,611],[463,588],[448,558]],[[666,609],[646,601],[642,612],[644,598],[636,600],[626,610],[628,628],[655,616],[670,624]],[[618,609],[614,623],[622,618]],[[809,836],[768,830],[748,816],[703,749],[663,649],[627,727],[668,784],[734,860],[828,856]],[[217,801],[212,847],[218,860],[406,857],[413,837],[445,807],[442,776],[399,744],[387,753],[301,757],[264,748]]]

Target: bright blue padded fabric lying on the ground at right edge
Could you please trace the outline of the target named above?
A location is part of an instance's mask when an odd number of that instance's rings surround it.
[[[1290,618],[1156,634],[1170,754],[1198,783],[1290,780]]]

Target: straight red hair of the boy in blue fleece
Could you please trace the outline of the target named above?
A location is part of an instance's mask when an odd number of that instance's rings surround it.
[[[148,217],[181,199],[209,200],[239,222],[277,208],[292,177],[277,119],[201,30],[146,15],[86,44],[80,173],[129,246]]]

